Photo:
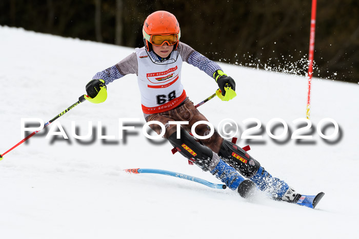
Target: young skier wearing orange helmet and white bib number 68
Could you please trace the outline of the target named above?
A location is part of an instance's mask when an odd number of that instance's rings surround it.
[[[179,153],[204,171],[210,171],[244,198],[256,186],[276,200],[296,203],[301,194],[284,181],[272,177],[241,147],[223,139],[217,132],[210,138],[199,141],[189,134],[195,122],[208,120],[194,107],[183,89],[182,63],[185,61],[192,64],[213,77],[227,100],[235,96],[234,80],[218,64],[179,41],[179,24],[169,12],[157,11],[150,14],[143,26],[143,37],[144,47],[136,48],[134,53],[115,66],[95,74],[86,85],[86,99],[94,103],[103,102],[107,97],[107,84],[127,74],[136,74],[146,121],[163,123],[166,127],[163,137]],[[169,121],[189,122],[181,126],[179,139],[177,126],[169,124]],[[159,125],[151,124],[150,127],[161,134]],[[196,126],[195,133],[200,136],[208,135],[209,129],[206,124],[200,124]]]

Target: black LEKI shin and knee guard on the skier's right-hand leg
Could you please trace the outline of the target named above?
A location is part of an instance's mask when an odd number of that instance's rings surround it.
[[[218,153],[226,163],[232,165],[244,177],[250,178],[258,171],[261,164],[234,143],[224,140]]]

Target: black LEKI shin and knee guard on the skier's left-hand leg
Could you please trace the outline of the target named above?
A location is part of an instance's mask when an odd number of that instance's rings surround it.
[[[177,139],[177,132],[174,132],[168,137],[168,141],[181,155],[200,166],[204,171],[208,171],[216,166],[218,162],[213,162],[213,152],[209,147],[196,141],[193,136],[182,128],[180,133],[181,137],[179,139]]]

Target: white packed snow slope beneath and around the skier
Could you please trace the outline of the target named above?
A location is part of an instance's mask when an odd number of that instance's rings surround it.
[[[0,153],[22,139],[22,118],[49,121],[86,93],[85,85],[96,72],[133,51],[0,27]],[[290,135],[298,125],[292,121],[305,117],[307,79],[230,64],[221,67],[236,80],[237,97],[229,102],[214,98],[198,110],[215,127],[233,119],[240,126],[239,136],[253,123],[243,120],[260,120],[262,132],[250,134],[263,139],[240,139],[237,144],[250,144],[249,154],[298,192],[324,191],[317,208],[272,201],[261,193],[245,200],[230,189],[125,173],[126,168],[156,168],[221,183],[181,155],[172,155],[168,142],[154,144],[145,138],[136,76],[128,75],[108,85],[106,102],[86,101],[55,121],[69,139],[46,139],[41,132],[0,161],[0,237],[358,238],[359,85],[313,79],[312,131],[304,132],[313,139],[273,140],[265,129],[271,119],[283,119]],[[213,79],[187,63],[182,81],[194,103],[217,89]],[[119,118],[139,119],[126,141],[118,137]],[[318,136],[316,127],[324,118],[339,125],[340,137],[334,142]],[[55,122],[47,128],[59,132]],[[71,122],[81,136],[92,123],[95,137],[76,140]],[[98,128],[114,139],[99,139]],[[275,135],[281,132],[283,127],[272,128]],[[325,135],[332,132],[334,127],[323,129]]]

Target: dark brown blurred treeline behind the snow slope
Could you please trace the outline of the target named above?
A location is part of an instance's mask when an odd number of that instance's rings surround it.
[[[210,59],[307,73],[311,0],[1,0],[0,25],[142,47],[157,10],[173,13],[181,41]],[[359,1],[319,0],[316,14],[313,76],[359,82]]]

